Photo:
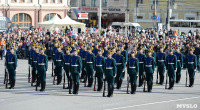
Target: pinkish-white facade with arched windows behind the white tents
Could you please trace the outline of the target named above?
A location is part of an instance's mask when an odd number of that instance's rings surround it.
[[[64,18],[70,10],[68,0],[0,0],[0,10],[12,21],[12,26],[37,27],[55,14]]]

